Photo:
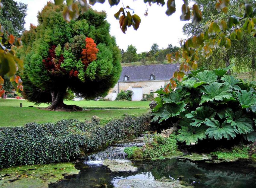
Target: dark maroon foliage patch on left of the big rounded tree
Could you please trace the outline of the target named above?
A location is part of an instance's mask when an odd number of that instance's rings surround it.
[[[59,59],[56,59],[55,48],[56,48],[55,45],[51,46],[48,52],[49,54],[48,57],[42,60],[43,63],[45,64],[46,69],[52,72],[60,71],[61,63],[64,61],[64,57],[62,54],[59,57]]]

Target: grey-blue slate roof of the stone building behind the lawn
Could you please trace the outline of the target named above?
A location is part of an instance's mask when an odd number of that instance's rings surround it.
[[[151,74],[155,75],[155,80],[169,80],[179,67],[179,63],[122,67],[118,82],[124,81],[125,75],[129,76],[128,81],[147,81]]]

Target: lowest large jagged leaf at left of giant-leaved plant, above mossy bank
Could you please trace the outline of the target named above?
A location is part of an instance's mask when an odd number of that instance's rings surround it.
[[[186,145],[195,145],[199,140],[206,138],[205,127],[192,127],[192,126],[182,126],[178,130],[180,133],[177,135],[177,139],[180,142],[186,142]]]

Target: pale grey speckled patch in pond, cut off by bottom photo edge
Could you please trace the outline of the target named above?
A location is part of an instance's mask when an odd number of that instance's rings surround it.
[[[184,186],[177,180],[161,181],[148,179],[125,179],[117,182],[117,188],[192,188],[192,186]]]

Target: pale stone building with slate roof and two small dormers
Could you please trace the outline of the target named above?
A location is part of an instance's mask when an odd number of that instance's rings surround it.
[[[150,94],[164,87],[179,66],[179,64],[160,64],[122,67],[117,84],[105,98],[115,100],[121,90],[132,90],[132,101],[140,101],[144,94]]]

